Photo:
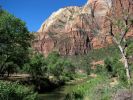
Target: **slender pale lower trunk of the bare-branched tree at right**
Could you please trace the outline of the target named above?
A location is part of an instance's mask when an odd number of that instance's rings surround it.
[[[130,75],[130,71],[129,71],[129,65],[128,65],[128,60],[126,58],[126,55],[124,53],[124,50],[122,48],[121,45],[118,46],[120,51],[121,51],[121,54],[122,54],[122,58],[124,60],[124,67],[125,67],[125,70],[126,70],[126,76],[127,76],[127,79],[128,79],[128,82],[130,82],[130,79],[131,79],[131,75]]]

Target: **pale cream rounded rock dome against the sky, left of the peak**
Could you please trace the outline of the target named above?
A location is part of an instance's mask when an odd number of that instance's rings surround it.
[[[59,9],[54,12],[42,25],[38,32],[54,31],[62,32],[66,24],[78,15],[81,7],[71,6]]]

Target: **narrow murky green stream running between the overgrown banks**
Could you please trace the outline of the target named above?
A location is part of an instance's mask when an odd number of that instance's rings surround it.
[[[60,86],[51,92],[39,94],[39,98],[41,100],[64,100],[66,95],[72,91],[73,87],[79,84],[83,84],[87,80],[89,80],[89,77],[76,78],[75,80],[66,82],[65,85]]]

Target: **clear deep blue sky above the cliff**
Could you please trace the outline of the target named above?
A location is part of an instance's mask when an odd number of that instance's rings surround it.
[[[87,0],[0,0],[2,8],[22,19],[31,32],[55,11],[66,6],[83,6]]]

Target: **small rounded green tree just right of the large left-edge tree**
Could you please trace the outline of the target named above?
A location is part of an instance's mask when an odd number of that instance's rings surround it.
[[[24,65],[24,71],[28,72],[33,79],[46,75],[47,63],[42,54],[34,53],[30,61]]]

